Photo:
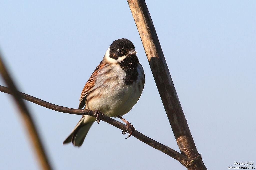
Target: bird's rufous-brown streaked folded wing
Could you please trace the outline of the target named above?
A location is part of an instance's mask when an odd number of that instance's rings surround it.
[[[106,65],[106,63],[104,63],[103,61],[101,61],[101,63],[98,65],[98,67],[94,70],[94,72],[92,73],[90,79],[87,81],[87,83],[85,84],[81,96],[80,96],[80,103],[79,103],[79,109],[83,108],[85,105],[85,100],[87,97],[87,94],[90,92],[90,90],[94,87],[95,85],[95,79],[97,77],[97,75],[99,75],[100,71],[103,69],[103,67]]]

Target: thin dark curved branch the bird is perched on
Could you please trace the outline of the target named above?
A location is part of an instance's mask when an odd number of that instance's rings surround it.
[[[0,85],[0,91],[2,91],[4,93],[11,94],[11,91],[10,91],[9,88],[1,86],[1,85]],[[36,97],[27,95],[25,93],[19,92],[19,95],[25,100],[31,101],[33,103],[39,104],[43,107],[46,107],[46,108],[49,108],[49,109],[52,109],[52,110],[56,110],[56,111],[64,112],[64,113],[69,113],[69,114],[90,115],[90,116],[96,117],[96,115],[94,115],[94,111],[89,110],[89,109],[72,109],[72,108],[58,106],[56,104],[49,103],[47,101],[38,99]],[[124,125],[124,124],[122,124],[122,123],[120,123],[120,122],[118,122],[118,121],[116,121],[116,120],[114,120],[114,119],[112,119],[108,116],[104,116],[104,118],[101,117],[101,120],[119,128],[121,130],[125,130],[127,128],[126,125]],[[126,132],[130,133],[131,130],[132,129],[129,128],[129,129],[126,130]],[[135,130],[132,133],[132,136],[134,136],[135,138],[137,138],[137,139],[141,140],[142,142],[148,144],[149,146],[151,146],[151,147],[153,147],[153,148],[155,148],[159,151],[162,151],[165,154],[173,157],[174,159],[176,159],[180,163],[182,163],[184,166],[188,166],[188,165],[190,166],[191,164],[193,164],[195,162],[196,159],[198,159],[200,157],[200,155],[199,155],[197,158],[189,159],[186,156],[182,155],[181,153],[173,150],[172,148],[169,148],[169,147],[163,145],[162,143],[159,143],[159,142],[143,135],[142,133],[138,132],[137,130]]]

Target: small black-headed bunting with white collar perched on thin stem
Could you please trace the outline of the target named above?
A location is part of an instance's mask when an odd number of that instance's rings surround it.
[[[136,53],[130,40],[121,38],[113,41],[80,96],[78,108],[85,106],[84,109],[95,110],[97,117],[83,115],[63,144],[72,142],[74,146],[82,146],[93,123],[100,122],[100,113],[103,117],[120,118],[127,129],[133,129],[128,137],[131,136],[135,128],[121,116],[137,103],[145,85],[144,70]]]

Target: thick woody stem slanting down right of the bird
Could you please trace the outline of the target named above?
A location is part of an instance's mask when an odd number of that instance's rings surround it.
[[[142,44],[179,149],[181,153],[188,158],[195,158],[199,156],[199,153],[190,133],[145,0],[127,0],[127,2],[137,25]],[[195,164],[195,167],[189,166],[187,168],[207,169],[201,157]]]

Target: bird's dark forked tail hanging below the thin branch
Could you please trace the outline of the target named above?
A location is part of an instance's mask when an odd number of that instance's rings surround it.
[[[78,122],[67,139],[64,140],[63,144],[72,142],[74,146],[81,146],[95,120],[95,117],[83,115],[82,119]]]

